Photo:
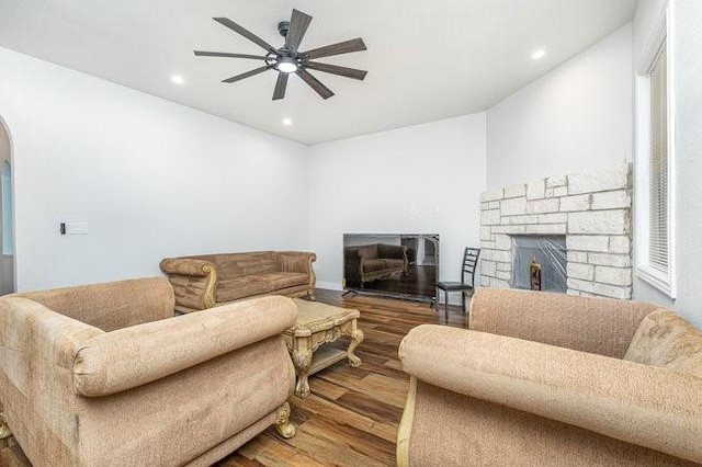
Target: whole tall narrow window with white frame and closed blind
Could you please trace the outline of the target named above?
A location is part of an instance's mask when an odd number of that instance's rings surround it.
[[[675,298],[673,122],[664,11],[636,79],[636,273]]]

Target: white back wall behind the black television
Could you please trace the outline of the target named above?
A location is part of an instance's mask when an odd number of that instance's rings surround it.
[[[439,234],[440,276],[479,239],[485,113],[310,148],[309,244],[318,284],[340,288],[342,235]]]

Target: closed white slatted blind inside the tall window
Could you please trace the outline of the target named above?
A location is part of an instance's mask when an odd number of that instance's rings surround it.
[[[666,47],[650,69],[650,212],[648,262],[668,273],[668,83]]]

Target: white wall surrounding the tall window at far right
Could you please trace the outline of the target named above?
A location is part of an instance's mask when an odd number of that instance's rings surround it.
[[[638,2],[634,19],[634,59],[638,59],[655,20],[666,3],[664,0]],[[671,8],[673,53],[668,64],[675,87],[678,294],[677,299],[671,300],[635,277],[634,297],[671,306],[702,327],[702,2],[673,0]],[[646,170],[641,167],[636,169]]]

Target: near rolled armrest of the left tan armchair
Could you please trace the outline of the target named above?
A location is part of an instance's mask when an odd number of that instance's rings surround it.
[[[296,316],[290,298],[271,296],[98,335],[76,354],[75,391],[109,396],[155,381],[282,334]]]

